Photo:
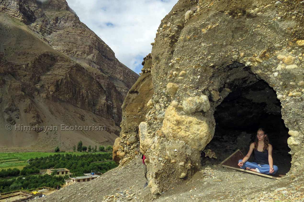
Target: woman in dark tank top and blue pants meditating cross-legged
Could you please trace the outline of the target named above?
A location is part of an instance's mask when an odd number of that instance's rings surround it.
[[[254,161],[248,162],[252,151],[254,152]],[[250,144],[249,151],[243,160],[239,160],[237,164],[240,168],[274,175],[278,172],[278,167],[273,165],[272,146],[269,144],[268,136],[263,128],[257,130],[257,136],[254,143]]]

